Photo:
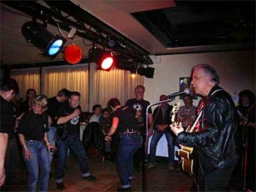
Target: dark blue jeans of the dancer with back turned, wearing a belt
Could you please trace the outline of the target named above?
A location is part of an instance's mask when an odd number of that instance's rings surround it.
[[[139,133],[121,135],[116,157],[116,169],[122,188],[129,188],[131,186],[133,155],[138,150],[138,147],[140,147],[141,142],[142,138]]]

